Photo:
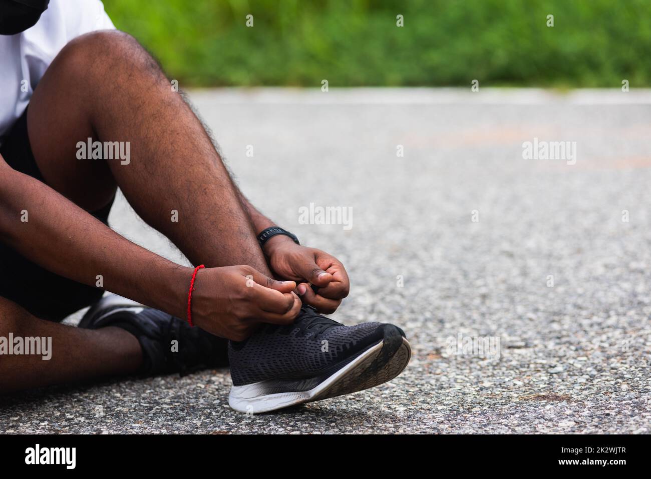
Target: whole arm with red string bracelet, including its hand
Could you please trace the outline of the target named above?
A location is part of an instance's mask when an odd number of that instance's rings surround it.
[[[27,221],[21,221],[23,211]],[[1,156],[0,240],[53,273],[89,286],[102,275],[105,289],[186,318],[193,268],[123,238]],[[275,281],[250,266],[202,269],[199,276],[193,318],[217,336],[242,340],[257,323],[291,323],[300,310],[291,293],[296,283]]]

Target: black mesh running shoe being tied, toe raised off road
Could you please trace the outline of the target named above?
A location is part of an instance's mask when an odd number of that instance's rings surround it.
[[[291,325],[266,325],[229,342],[229,404],[240,413],[264,413],[349,394],[391,381],[410,357],[394,325],[344,326],[303,307]]]

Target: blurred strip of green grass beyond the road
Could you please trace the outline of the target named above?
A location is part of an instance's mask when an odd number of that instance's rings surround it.
[[[648,0],[104,0],[182,87],[651,85]],[[245,26],[253,14],[254,26]],[[404,27],[396,27],[396,15]],[[553,14],[554,27],[546,26]]]

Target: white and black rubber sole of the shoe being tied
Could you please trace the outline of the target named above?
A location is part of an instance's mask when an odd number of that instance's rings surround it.
[[[280,382],[260,381],[230,389],[229,405],[240,413],[266,413],[306,402],[319,401],[342,394],[361,391],[391,381],[407,367],[411,358],[411,346],[402,338],[402,344],[381,368],[373,370],[373,364],[380,357],[384,341],[371,346],[353,361],[309,390],[276,392]],[[308,381],[305,381],[308,382]]]

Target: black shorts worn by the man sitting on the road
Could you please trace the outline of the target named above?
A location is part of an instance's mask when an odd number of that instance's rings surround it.
[[[45,183],[27,135],[27,109],[2,139],[0,154],[16,171]],[[108,224],[113,200],[94,217]],[[37,318],[61,321],[98,301],[104,290],[66,279],[34,264],[0,239],[0,297],[18,303]]]

